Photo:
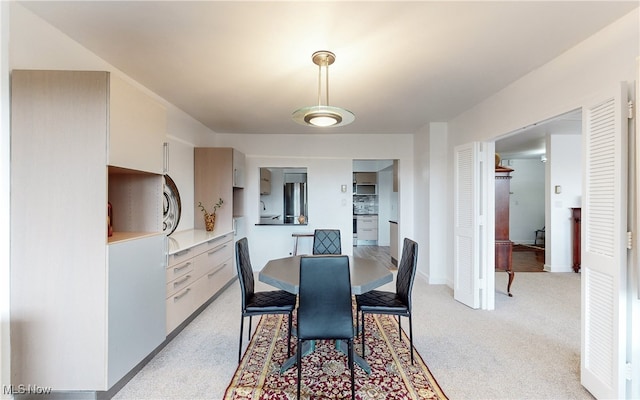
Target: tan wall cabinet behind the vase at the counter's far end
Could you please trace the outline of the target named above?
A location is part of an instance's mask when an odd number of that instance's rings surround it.
[[[214,232],[233,230],[233,217],[244,215],[244,154],[230,147],[196,147],[194,149],[194,228],[205,229],[198,203],[212,212],[218,199],[224,205],[216,212]]]

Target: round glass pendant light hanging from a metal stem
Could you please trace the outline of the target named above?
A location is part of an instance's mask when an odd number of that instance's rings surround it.
[[[299,124],[315,127],[344,126],[352,123],[356,116],[349,110],[329,105],[329,65],[336,60],[330,51],[316,51],[311,56],[318,66],[318,105],[302,107],[294,111],[292,118]],[[322,68],[325,69],[325,105],[322,105]]]

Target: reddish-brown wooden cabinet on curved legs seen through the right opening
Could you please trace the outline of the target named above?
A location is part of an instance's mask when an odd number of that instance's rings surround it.
[[[509,240],[509,196],[511,172],[513,169],[496,166],[495,170],[495,268],[507,271],[509,283],[507,294],[511,296],[514,272],[512,266],[513,242]]]

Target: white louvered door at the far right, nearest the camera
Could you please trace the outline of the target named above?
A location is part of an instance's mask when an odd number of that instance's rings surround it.
[[[626,397],[627,87],[583,108],[581,381]]]

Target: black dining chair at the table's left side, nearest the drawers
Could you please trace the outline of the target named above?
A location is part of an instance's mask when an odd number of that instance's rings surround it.
[[[244,318],[249,317],[248,340],[251,340],[251,317],[264,314],[288,314],[289,338],[287,341],[287,357],[291,356],[291,325],[293,310],[296,307],[296,295],[284,290],[254,292],[253,268],[249,258],[249,242],[242,238],[236,242],[236,267],[238,281],[242,292],[242,317],[240,318],[240,345],[238,348],[238,362],[242,359],[242,332]]]

